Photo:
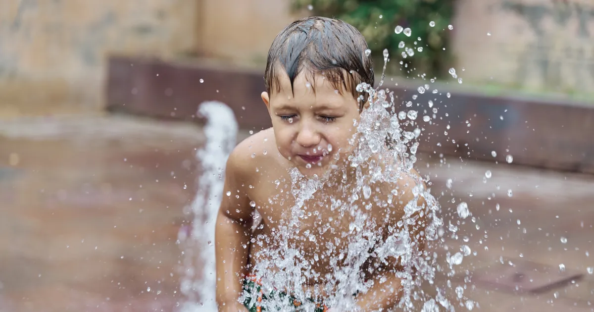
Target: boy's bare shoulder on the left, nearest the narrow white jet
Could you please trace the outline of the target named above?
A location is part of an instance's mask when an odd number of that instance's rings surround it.
[[[235,149],[229,155],[227,170],[233,174],[243,177],[249,176],[254,172],[254,168],[264,163],[268,155],[276,155],[277,149],[274,146],[274,133],[272,128],[255,133],[241,143],[235,146]],[[264,151],[270,150],[272,153],[265,154]]]

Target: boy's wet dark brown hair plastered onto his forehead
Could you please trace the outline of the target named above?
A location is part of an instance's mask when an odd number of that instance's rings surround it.
[[[326,17],[307,17],[285,27],[272,42],[264,83],[268,94],[280,91],[279,75],[289,76],[291,89],[297,75],[307,74],[315,92],[314,74],[322,74],[341,94],[352,93],[361,110],[366,92],[357,92],[359,83],[374,85],[373,62],[363,35],[350,24]]]

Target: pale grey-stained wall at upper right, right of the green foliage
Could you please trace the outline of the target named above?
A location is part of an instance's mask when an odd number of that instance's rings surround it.
[[[465,81],[594,90],[592,0],[459,0],[453,25]]]

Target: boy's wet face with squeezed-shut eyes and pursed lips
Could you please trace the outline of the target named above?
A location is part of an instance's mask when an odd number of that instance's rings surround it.
[[[279,83],[279,92],[262,93],[276,146],[302,174],[321,177],[336,163],[337,152],[344,157],[349,150],[349,138],[356,131],[353,124],[359,120],[358,102],[350,92],[338,92],[319,74],[315,75],[315,93],[302,74],[295,78],[293,89],[286,74],[279,77]]]

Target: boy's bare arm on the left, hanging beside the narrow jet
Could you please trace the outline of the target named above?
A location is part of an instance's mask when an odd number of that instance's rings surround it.
[[[252,210],[247,196],[247,183],[242,177],[241,156],[234,151],[225,168],[225,190],[216,220],[217,304],[219,311],[245,309],[238,302],[242,276],[248,274],[249,240]],[[230,196],[227,196],[230,192]],[[244,310],[247,311],[247,310]]]

